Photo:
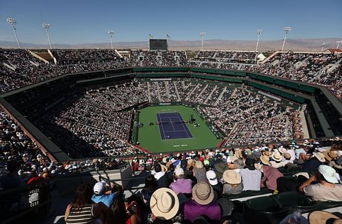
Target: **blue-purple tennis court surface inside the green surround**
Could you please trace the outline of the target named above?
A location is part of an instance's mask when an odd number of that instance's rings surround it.
[[[181,114],[157,113],[159,131],[162,140],[171,139],[192,139],[192,134],[183,122]]]

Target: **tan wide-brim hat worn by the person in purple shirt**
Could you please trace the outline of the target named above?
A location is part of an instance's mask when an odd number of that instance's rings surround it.
[[[213,188],[206,182],[198,182],[192,188],[192,197],[202,206],[210,204],[214,198]]]

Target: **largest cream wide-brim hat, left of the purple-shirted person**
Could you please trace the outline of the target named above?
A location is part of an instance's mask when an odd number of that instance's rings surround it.
[[[150,209],[158,219],[172,219],[179,210],[179,199],[170,188],[159,188],[150,197]]]

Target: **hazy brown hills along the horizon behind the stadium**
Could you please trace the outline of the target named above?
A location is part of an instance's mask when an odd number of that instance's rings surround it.
[[[321,39],[288,39],[285,44],[285,51],[321,51],[321,44],[326,43],[326,48],[336,48],[337,40],[340,38],[321,38]],[[259,51],[277,51],[280,50],[283,40],[266,40],[259,42]],[[168,40],[170,49],[198,50],[200,49],[200,40]],[[252,40],[205,40],[203,48],[207,50],[254,50],[256,41]],[[21,43],[22,48],[49,48],[47,44]],[[1,48],[17,48],[16,42],[0,41]],[[81,48],[110,48],[110,43],[92,43],[92,44],[53,44],[54,48],[81,49]],[[115,42],[114,48],[148,48],[148,42]],[[342,48],[342,45],[341,45]]]

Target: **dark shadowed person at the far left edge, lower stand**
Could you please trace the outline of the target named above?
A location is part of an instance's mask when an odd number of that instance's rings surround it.
[[[18,176],[18,163],[16,161],[12,160],[8,162],[7,170],[9,173],[0,179],[0,186],[2,186],[4,191],[27,186],[23,178]]]

